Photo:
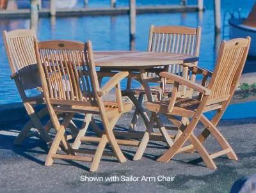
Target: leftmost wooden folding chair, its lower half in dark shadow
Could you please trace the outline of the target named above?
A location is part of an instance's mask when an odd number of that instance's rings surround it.
[[[40,121],[48,114],[47,107],[43,107],[39,112],[36,112],[34,108],[34,105],[45,104],[44,99],[40,93],[32,96],[26,94],[27,90],[41,86],[34,50],[36,33],[33,29],[3,31],[3,40],[12,71],[11,79],[15,81],[22,103],[30,118],[13,143],[21,144],[26,137],[33,136],[41,137],[46,143],[50,143],[52,139],[47,133],[51,129],[52,123],[48,121],[43,125]],[[39,134],[31,132],[31,128],[36,128]],[[77,133],[76,125],[72,121],[70,128],[74,134]]]

